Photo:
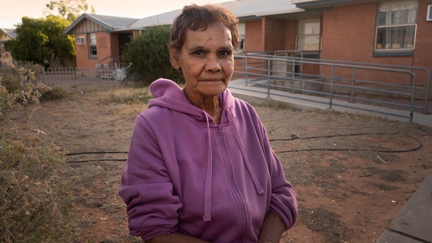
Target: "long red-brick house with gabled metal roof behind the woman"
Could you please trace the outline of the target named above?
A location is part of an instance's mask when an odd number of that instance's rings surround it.
[[[227,7],[239,18],[245,52],[308,51],[310,57],[323,60],[432,70],[432,2],[428,1],[237,0],[215,5]],[[124,18],[85,14],[65,34],[84,37],[86,44],[96,43],[92,47],[77,44],[78,66],[92,66],[120,55],[120,45],[127,38],[118,38],[116,43],[117,37],[113,36],[136,36],[150,26],[170,25],[179,12],[129,19],[129,23]],[[425,86],[426,73],[413,73],[417,85]],[[376,74],[374,79],[397,82],[400,77],[387,73],[385,77]]]

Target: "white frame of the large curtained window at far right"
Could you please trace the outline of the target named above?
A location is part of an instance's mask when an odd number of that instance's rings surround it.
[[[392,1],[392,2],[380,2],[380,6],[378,6],[378,11],[377,11],[377,20],[376,20],[376,28],[375,28],[375,41],[374,41],[374,51],[375,52],[394,52],[394,51],[412,51],[415,48],[415,38],[417,35],[417,16],[415,18],[415,23],[403,23],[403,24],[388,24],[388,25],[379,25],[379,14],[380,13],[385,13],[385,12],[380,12],[380,8],[381,8],[381,4],[389,4],[389,3],[394,3],[395,5],[397,5],[398,3],[407,3],[407,2],[412,2],[413,4],[417,5],[417,15],[418,15],[418,0],[412,0],[412,1]],[[400,9],[402,10],[402,9]],[[379,29],[383,29],[383,28],[397,28],[397,27],[410,27],[412,26],[414,28],[414,33],[412,36],[412,48],[377,48],[378,47],[378,36],[379,36]],[[407,38],[407,36],[405,36],[405,38]]]

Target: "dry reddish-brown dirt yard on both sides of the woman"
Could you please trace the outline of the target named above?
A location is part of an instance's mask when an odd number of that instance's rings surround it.
[[[141,92],[134,90],[132,92]],[[70,94],[14,110],[8,129],[70,152],[77,242],[140,242],[118,196],[142,102],[117,91]],[[373,242],[432,170],[432,128],[337,112],[256,106],[297,193],[299,218],[280,242]],[[422,146],[421,148],[419,148]]]

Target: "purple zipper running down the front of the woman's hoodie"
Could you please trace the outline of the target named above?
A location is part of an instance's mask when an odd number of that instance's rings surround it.
[[[219,129],[219,140],[221,142],[221,149],[222,152],[225,156],[225,160],[227,161],[227,165],[228,165],[228,175],[230,178],[230,184],[231,184],[231,189],[233,189],[234,194],[236,195],[237,201],[238,201],[238,205],[240,205],[240,214],[242,215],[242,231],[240,233],[240,237],[239,239],[242,239],[244,237],[244,235],[246,234],[246,230],[247,230],[247,217],[246,217],[246,209],[245,209],[245,203],[240,195],[239,190],[237,189],[235,183],[234,183],[234,174],[233,174],[233,165],[232,165],[232,161],[230,160],[230,157],[228,156],[228,152],[225,148],[225,143],[224,143],[224,132],[222,131],[222,127],[221,125],[218,125],[218,129]]]

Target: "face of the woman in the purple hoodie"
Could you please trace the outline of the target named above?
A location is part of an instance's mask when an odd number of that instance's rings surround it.
[[[185,33],[179,52],[170,49],[172,66],[181,68],[188,98],[219,96],[234,72],[234,48],[230,30],[219,24]]]

